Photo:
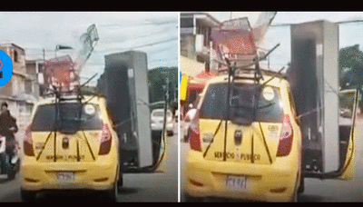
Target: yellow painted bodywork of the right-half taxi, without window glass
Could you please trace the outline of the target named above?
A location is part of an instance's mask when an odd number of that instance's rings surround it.
[[[264,74],[261,84],[271,77]],[[236,79],[234,83],[249,84],[249,81]],[[283,113],[279,122],[253,121],[250,124],[239,124],[230,120],[227,130],[225,120],[201,117],[202,107],[210,106],[211,111],[221,108],[218,104],[223,100],[219,102],[218,91],[215,90],[214,95],[209,92],[211,85],[216,84],[228,84],[228,76],[211,79],[200,96],[198,115],[190,128],[191,149],[188,152],[184,183],[186,199],[194,201],[224,197],[268,202],[296,201],[301,179],[301,133],[287,80],[282,77],[271,79],[260,94],[260,98],[267,101],[275,98],[280,100],[275,103],[275,106],[279,104]],[[221,93],[227,94],[226,91]],[[217,101],[206,101],[208,95],[214,96],[213,100]],[[209,104],[205,104],[206,102]],[[218,107],[213,108],[213,104]],[[261,119],[271,114],[262,115]],[[282,152],[281,155],[278,152],[280,144],[283,145],[280,141],[281,131],[283,124],[287,123],[289,128],[284,133],[290,133],[292,141],[289,152]],[[193,134],[193,127],[194,130],[199,128],[199,132],[197,130]],[[198,133],[200,139],[194,139],[194,135],[198,138]],[[237,138],[240,136],[242,138],[239,143]],[[283,151],[283,147],[281,149]]]

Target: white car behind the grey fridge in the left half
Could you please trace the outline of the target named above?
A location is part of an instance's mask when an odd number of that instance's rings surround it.
[[[163,122],[164,122],[164,109],[154,109],[152,110],[152,131],[162,130]],[[165,130],[168,136],[172,136],[174,123],[172,122],[172,112],[170,110],[166,111],[166,125]]]

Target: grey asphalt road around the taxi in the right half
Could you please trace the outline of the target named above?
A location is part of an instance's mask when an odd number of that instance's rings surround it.
[[[346,120],[343,120],[346,122]],[[363,118],[357,123],[356,177],[353,181],[305,179],[305,192],[299,194],[298,202],[363,202]],[[182,134],[181,134],[182,135]],[[181,139],[181,138],[180,138]],[[182,139],[181,139],[182,140]],[[181,183],[185,181],[183,172],[189,144],[181,141]],[[205,199],[205,202],[242,202],[230,199]],[[181,202],[185,202],[181,184]]]

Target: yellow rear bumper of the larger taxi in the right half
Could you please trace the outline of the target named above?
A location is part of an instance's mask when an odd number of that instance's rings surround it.
[[[225,197],[269,202],[289,202],[296,193],[298,162],[288,157],[272,164],[208,161],[202,154],[189,151],[185,193],[192,197]],[[228,189],[228,176],[246,177],[245,189]]]

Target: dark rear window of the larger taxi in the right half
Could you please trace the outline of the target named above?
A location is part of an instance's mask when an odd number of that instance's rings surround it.
[[[243,119],[246,123],[282,122],[280,88],[266,85],[259,88],[252,84],[231,85],[231,99],[227,102],[228,84],[210,84],[201,104],[200,118],[226,119],[227,104],[230,120]],[[254,112],[255,102],[257,110]]]

